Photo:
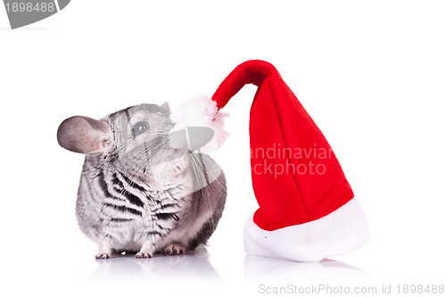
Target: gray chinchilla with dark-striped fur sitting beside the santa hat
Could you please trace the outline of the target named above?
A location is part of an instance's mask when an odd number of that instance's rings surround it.
[[[141,122],[146,128],[139,134]],[[59,143],[87,153],[76,215],[80,229],[98,245],[96,258],[107,259],[112,251],[137,252],[138,258],[164,249],[193,251],[217,227],[225,176],[208,155],[169,147],[172,127],[169,109],[154,104],[103,120],[62,122]]]

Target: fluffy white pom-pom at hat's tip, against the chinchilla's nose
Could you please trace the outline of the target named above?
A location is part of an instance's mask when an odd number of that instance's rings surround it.
[[[217,103],[207,96],[197,96],[171,108],[170,120],[175,127],[170,132],[186,127],[205,127],[214,131],[214,136],[208,144],[200,149],[202,153],[210,153],[219,149],[229,134],[224,130],[224,118],[227,113],[219,112]],[[170,142],[172,147],[178,144]],[[177,147],[179,148],[179,147]]]

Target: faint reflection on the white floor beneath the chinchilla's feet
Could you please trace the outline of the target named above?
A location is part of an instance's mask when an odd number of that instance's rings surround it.
[[[188,281],[206,279],[219,281],[219,275],[209,261],[205,249],[194,253],[164,256],[155,254],[150,259],[136,259],[134,254],[113,256],[108,260],[96,260],[97,268],[90,281]]]

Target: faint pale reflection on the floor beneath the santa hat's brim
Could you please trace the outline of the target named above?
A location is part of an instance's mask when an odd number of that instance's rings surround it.
[[[372,277],[367,271],[336,260],[306,263],[252,255],[244,258],[244,276],[245,280],[255,282],[367,281]]]

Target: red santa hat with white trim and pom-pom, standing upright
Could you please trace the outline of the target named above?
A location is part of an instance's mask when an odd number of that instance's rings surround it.
[[[172,117],[180,126],[212,128],[215,148],[226,137],[219,110],[246,84],[258,87],[249,131],[252,187],[260,208],[245,224],[245,252],[319,261],[367,243],[367,219],[341,165],[270,63],[240,64],[211,99],[184,103],[181,115],[174,112]]]

